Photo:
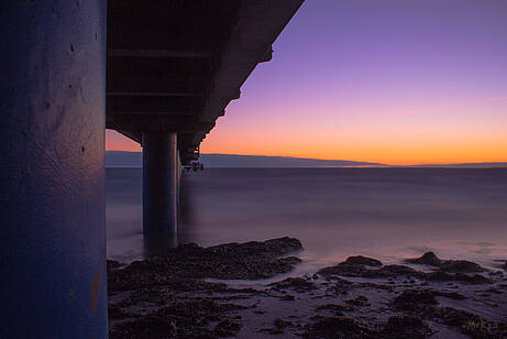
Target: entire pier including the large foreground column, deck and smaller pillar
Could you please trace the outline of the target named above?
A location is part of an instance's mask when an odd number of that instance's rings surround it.
[[[104,129],[143,146],[144,236],[169,243],[181,165],[302,1],[1,4],[1,337],[107,337]]]

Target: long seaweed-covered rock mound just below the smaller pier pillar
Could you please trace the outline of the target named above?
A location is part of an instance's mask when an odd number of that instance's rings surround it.
[[[153,285],[175,285],[188,278],[257,280],[287,273],[300,262],[295,256],[280,258],[302,245],[294,238],[228,243],[211,248],[187,244],[136,261],[124,269],[110,270],[110,292]]]

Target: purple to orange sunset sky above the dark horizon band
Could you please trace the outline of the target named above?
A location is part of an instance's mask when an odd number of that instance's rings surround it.
[[[201,153],[507,161],[505,0],[306,0],[273,48]]]

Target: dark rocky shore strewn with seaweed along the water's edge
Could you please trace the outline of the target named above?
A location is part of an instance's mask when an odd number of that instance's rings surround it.
[[[404,264],[355,255],[265,282],[290,272],[300,250],[280,238],[109,261],[110,338],[507,338],[500,260],[488,270],[432,252]]]

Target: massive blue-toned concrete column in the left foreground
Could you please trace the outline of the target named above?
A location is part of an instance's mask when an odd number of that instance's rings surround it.
[[[107,338],[106,0],[2,0],[0,51],[0,338]]]

